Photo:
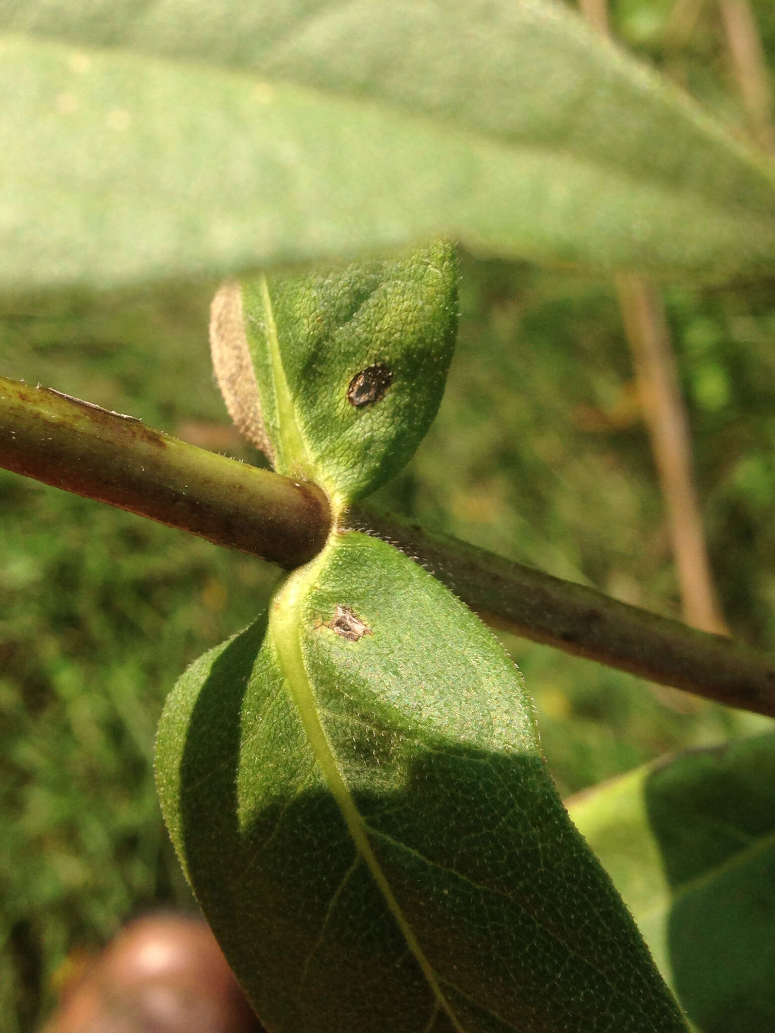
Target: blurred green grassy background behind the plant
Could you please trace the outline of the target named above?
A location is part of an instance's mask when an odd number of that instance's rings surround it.
[[[742,123],[715,13],[664,46],[672,4],[620,0],[615,29]],[[775,18],[756,7],[769,53]],[[773,283],[667,305],[712,565],[735,634],[775,648]],[[186,285],[0,318],[0,373],[259,458],[229,438]],[[464,256],[459,347],[439,417],[375,501],[429,526],[679,614],[663,506],[610,283]],[[221,430],[219,431],[218,428]],[[225,432],[225,436],[224,436]],[[153,737],[195,656],[247,624],[276,580],[253,558],[0,471],[0,1014],[36,1028],[63,960],[130,914],[190,903],[155,800]],[[752,715],[504,636],[563,793]]]

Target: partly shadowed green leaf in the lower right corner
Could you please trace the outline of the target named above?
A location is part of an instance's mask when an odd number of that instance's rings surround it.
[[[775,734],[680,754],[569,805],[702,1033],[775,1029]]]

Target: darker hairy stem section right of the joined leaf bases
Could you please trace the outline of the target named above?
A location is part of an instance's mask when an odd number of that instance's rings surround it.
[[[349,526],[393,542],[494,627],[729,707],[775,717],[775,657],[767,653],[452,536],[430,534],[393,514],[352,511]]]

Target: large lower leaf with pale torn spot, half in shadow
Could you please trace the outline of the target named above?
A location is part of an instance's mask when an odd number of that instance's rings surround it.
[[[521,676],[393,546],[338,534],[181,679],[162,807],[267,1028],[685,1030],[567,819]]]

